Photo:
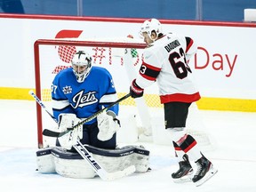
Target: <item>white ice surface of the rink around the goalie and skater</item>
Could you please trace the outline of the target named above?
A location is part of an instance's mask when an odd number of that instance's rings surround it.
[[[256,191],[256,113],[204,111],[200,113],[214,138],[214,149],[205,152],[219,172],[201,187],[173,183],[176,171],[172,148],[143,143],[150,150],[151,172],[120,180],[70,179],[36,172],[36,103],[0,100],[1,191]],[[134,143],[133,143],[134,144]],[[135,143],[141,144],[141,143]]]

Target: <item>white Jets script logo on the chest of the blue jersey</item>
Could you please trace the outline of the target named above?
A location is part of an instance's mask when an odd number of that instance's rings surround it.
[[[83,108],[84,106],[97,103],[98,99],[95,96],[96,92],[86,92],[84,90],[78,92],[72,99],[75,105],[71,104],[73,108]]]

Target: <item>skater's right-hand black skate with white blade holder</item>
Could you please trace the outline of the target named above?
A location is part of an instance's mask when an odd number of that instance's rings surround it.
[[[205,158],[203,155],[196,161],[197,171],[192,181],[196,184],[196,187],[204,184],[205,181],[210,180],[212,176],[218,172],[217,169],[213,168],[213,164]]]

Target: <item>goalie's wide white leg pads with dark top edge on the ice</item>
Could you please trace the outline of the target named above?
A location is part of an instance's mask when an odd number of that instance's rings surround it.
[[[134,165],[135,172],[147,172],[149,151],[142,146],[125,146],[118,149],[102,149],[85,146],[107,172],[123,171]],[[77,152],[65,148],[53,147],[39,149],[36,152],[37,170],[41,173],[57,172],[68,178],[94,178],[96,173],[90,164]]]

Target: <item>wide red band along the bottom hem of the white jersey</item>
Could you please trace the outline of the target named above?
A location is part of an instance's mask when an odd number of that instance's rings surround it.
[[[199,92],[194,94],[184,94],[184,93],[174,93],[168,95],[160,95],[161,103],[168,103],[168,102],[195,102],[196,100],[200,100],[201,96]]]

